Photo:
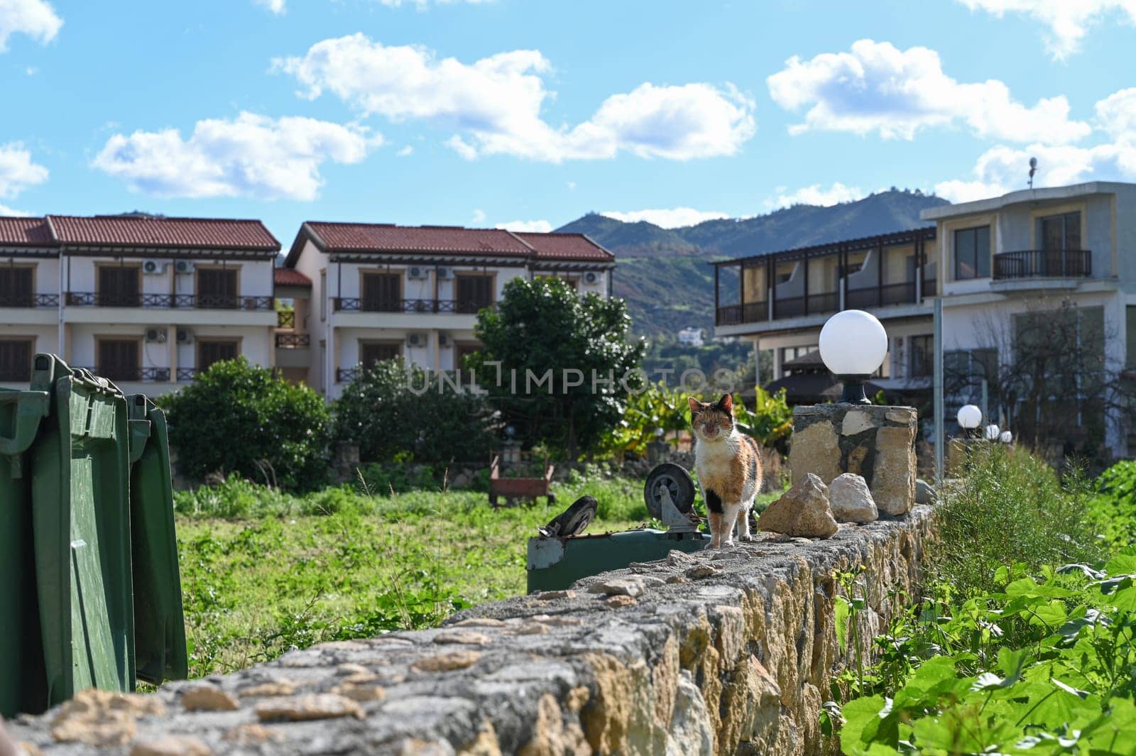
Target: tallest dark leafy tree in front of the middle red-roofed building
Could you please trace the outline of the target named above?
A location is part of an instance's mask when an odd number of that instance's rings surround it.
[[[642,386],[642,373],[632,371],[646,345],[629,329],[623,300],[580,297],[559,279],[517,278],[496,311],[477,314],[482,347],[467,367],[523,443],[543,442],[577,460],[619,422],[627,387]]]

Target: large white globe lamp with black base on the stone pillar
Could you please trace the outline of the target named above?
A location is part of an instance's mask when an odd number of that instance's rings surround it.
[[[871,404],[863,383],[887,356],[887,331],[863,310],[837,312],[820,329],[820,359],[844,384],[841,404]]]

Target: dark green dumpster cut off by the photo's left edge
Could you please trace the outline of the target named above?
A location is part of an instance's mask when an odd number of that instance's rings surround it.
[[[0,389],[0,715],[48,705],[32,551],[28,452],[47,392]]]

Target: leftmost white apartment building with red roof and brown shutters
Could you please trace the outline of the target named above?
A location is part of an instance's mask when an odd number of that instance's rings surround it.
[[[279,249],[259,220],[0,218],[0,386],[26,388],[35,352],[149,395],[272,367]]]

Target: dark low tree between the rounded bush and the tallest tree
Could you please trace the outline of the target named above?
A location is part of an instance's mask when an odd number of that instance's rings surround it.
[[[364,370],[335,402],[336,436],[365,462],[485,462],[491,414],[483,396],[401,359]]]

